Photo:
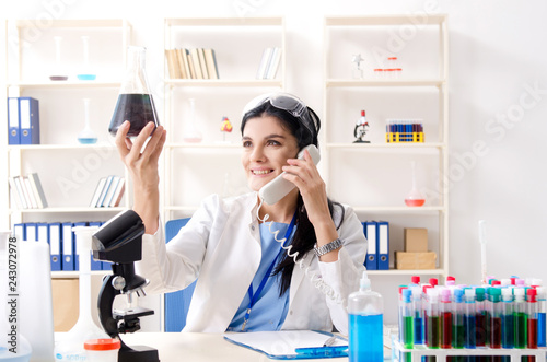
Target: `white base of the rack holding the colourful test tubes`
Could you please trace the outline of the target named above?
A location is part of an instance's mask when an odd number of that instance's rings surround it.
[[[394,357],[398,358],[403,353],[411,353],[412,361],[421,361],[422,355],[435,357],[435,362],[445,362],[449,355],[507,355],[511,358],[511,362],[521,362],[521,357],[533,355],[536,362],[547,361],[547,348],[540,347],[537,349],[517,349],[517,348],[475,348],[475,349],[431,349],[424,345],[415,345],[414,349],[406,349],[397,339],[393,340],[393,348],[395,350]]]

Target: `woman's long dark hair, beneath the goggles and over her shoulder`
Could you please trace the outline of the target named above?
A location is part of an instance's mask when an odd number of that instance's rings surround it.
[[[314,127],[310,129],[302,124],[300,117],[294,117],[287,110],[276,108],[269,102],[265,102],[256,108],[247,112],[242,119],[241,124],[241,132],[243,135],[243,130],[245,129],[245,125],[248,119],[255,117],[261,117],[264,115],[272,116],[278,118],[282,126],[286,127],[295,138],[301,150],[307,144],[315,144],[318,148],[318,139],[317,135],[321,128],[319,117],[315,114],[315,112],[307,107],[307,112],[310,113],[310,117],[314,122]],[[344,208],[340,203],[334,202],[327,198],[328,201],[328,210],[330,212],[330,217],[334,215],[335,206],[338,206],[341,209],[342,217],[340,219],[344,220]],[[311,252],[315,244],[317,243],[317,237],[315,235],[315,230],[307,218],[307,211],[304,206],[304,201],[302,200],[302,196],[299,192],[299,197],[296,200],[296,231],[294,232],[294,237],[291,241],[291,254],[299,253],[298,260],[302,259],[306,253]],[[337,225],[337,229],[340,225]],[[291,277],[292,271],[294,270],[294,260],[292,257],[289,257],[287,253],[282,253],[281,260],[276,266],[272,275],[281,275],[281,283],[279,287],[279,295],[283,295],[291,285]]]

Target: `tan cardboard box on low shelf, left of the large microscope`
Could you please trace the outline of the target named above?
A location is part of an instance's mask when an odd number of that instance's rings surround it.
[[[54,301],[54,330],[69,331],[80,315],[80,283],[78,278],[51,279]]]

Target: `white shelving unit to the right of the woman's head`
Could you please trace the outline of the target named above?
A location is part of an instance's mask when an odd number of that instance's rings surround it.
[[[404,227],[430,230],[429,246],[438,253],[434,270],[397,270],[392,266],[370,275],[449,272],[449,189],[443,182],[449,165],[447,38],[445,15],[430,15],[420,23],[407,15],[325,19],[321,142],[328,192],[351,205],[362,221],[389,222],[391,259],[394,249],[403,250]],[[357,79],[352,73],[356,55],[364,59],[362,78]],[[373,69],[388,68],[384,61],[394,56],[403,69],[400,77],[379,79]],[[366,112],[371,143],[352,143],[361,109]],[[423,119],[426,142],[386,143],[388,118]],[[419,180],[435,190],[434,198],[427,197],[426,206],[418,208],[404,203],[411,188],[414,160],[421,171]]]

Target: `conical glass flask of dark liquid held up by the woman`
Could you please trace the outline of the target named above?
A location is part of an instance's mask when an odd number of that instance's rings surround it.
[[[148,85],[144,69],[146,57],[147,48],[144,47],[129,46],[127,48],[126,75],[108,127],[108,132],[112,136],[116,136],[119,126],[126,120],[131,124],[127,133],[128,137],[139,135],[149,121],[153,121],[155,127],[160,125],[154,101]]]

